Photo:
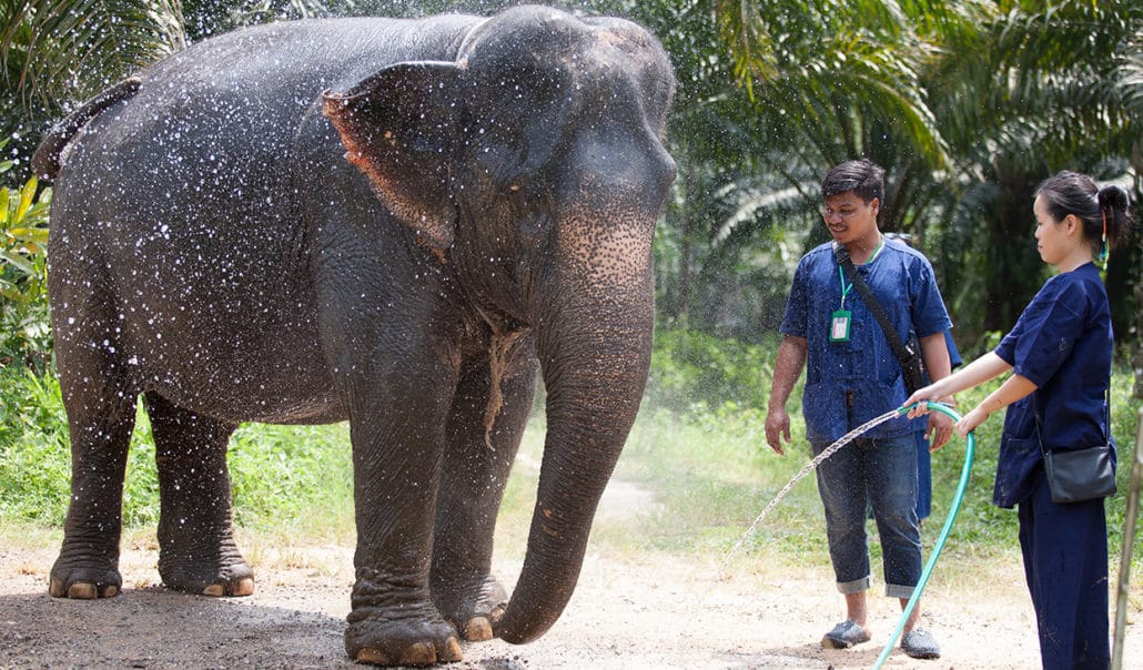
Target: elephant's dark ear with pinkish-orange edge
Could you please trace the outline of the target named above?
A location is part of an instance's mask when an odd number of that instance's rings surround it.
[[[448,175],[462,74],[455,63],[398,63],[345,94],[322,95],[345,157],[382,202],[439,250],[453,244],[455,230]]]

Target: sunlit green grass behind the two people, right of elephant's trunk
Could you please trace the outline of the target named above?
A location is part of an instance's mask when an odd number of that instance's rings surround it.
[[[999,382],[960,394],[962,408],[975,406]],[[1140,404],[1130,398],[1129,370],[1117,370],[1112,382],[1113,432],[1119,444],[1119,495],[1108,501],[1109,551],[1120,555],[1127,481],[1134,458]],[[793,398],[800,398],[800,389]],[[641,544],[690,558],[721,560],[751,523],[809,458],[799,402],[791,399],[793,445],[785,457],[765,444],[765,413],[733,402],[702,414],[647,407],[640,414],[616,476],[656,492],[662,504],[648,515],[638,537]],[[992,505],[992,481],[1004,424],[1002,414],[976,432],[975,455],[959,513],[942,552],[946,579],[964,576],[988,561],[1020,561],[1015,510]],[[933,516],[922,529],[926,556],[950,511],[965,464],[965,441],[953,440],[933,456]],[[746,537],[736,555],[740,569],[752,564],[828,566],[824,518],[814,476],[800,480],[766,520]],[[876,529],[871,551],[879,558]],[[608,536],[610,537],[610,536]],[[621,540],[622,541],[622,540]],[[1133,573],[1143,568],[1143,528],[1136,533]],[[959,571],[959,572],[958,572]]]

